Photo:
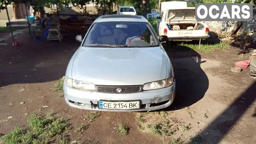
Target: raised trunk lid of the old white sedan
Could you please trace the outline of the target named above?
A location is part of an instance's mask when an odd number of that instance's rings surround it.
[[[165,21],[196,21],[195,7],[169,9]]]

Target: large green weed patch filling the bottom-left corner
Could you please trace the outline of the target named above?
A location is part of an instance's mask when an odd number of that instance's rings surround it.
[[[5,144],[47,144],[54,141],[55,136],[63,133],[68,127],[65,119],[54,119],[53,113],[48,113],[44,119],[38,114],[32,114],[27,124],[32,130],[14,126],[14,130],[2,136],[0,140]]]

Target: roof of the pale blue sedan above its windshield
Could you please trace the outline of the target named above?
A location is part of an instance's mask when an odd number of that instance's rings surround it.
[[[133,21],[133,22],[147,22],[148,20],[140,15],[126,15],[126,14],[109,14],[102,15],[94,20],[93,23],[109,22],[109,21]]]

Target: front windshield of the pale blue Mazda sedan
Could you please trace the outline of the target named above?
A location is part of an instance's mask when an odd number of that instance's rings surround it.
[[[154,47],[159,45],[148,23],[114,21],[94,23],[83,46]]]

